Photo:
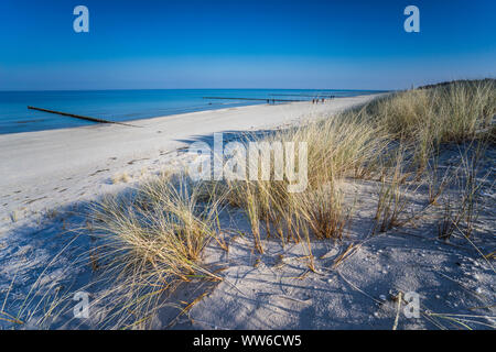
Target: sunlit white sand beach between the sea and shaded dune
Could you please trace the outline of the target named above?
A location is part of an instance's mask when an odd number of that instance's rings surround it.
[[[121,190],[144,174],[174,167],[181,163],[180,148],[214,132],[279,128],[333,114],[381,95],[128,121],[134,127],[95,124],[0,135],[0,230],[32,215]]]

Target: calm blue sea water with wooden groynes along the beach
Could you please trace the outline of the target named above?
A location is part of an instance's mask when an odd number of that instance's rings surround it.
[[[89,125],[94,122],[28,110],[28,106],[129,121],[201,110],[240,107],[267,101],[217,100],[204,97],[311,100],[314,97],[352,97],[371,90],[294,89],[163,89],[87,91],[0,91],[0,134]]]

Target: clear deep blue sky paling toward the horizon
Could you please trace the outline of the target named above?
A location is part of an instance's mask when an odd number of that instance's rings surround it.
[[[89,9],[89,33],[73,10]],[[407,33],[403,9],[420,9]],[[494,0],[1,0],[0,90],[397,89],[496,76]]]

